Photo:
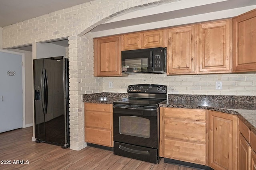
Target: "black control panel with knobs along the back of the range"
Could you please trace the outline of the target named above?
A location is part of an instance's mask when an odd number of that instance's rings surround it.
[[[128,93],[167,93],[167,86],[158,84],[136,84],[130,85]]]

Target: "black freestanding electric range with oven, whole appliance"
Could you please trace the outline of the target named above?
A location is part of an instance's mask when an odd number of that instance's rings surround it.
[[[167,86],[128,86],[128,98],[113,102],[114,154],[159,162],[159,107],[167,99]]]

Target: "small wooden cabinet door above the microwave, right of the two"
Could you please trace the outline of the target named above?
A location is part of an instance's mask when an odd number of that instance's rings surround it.
[[[143,47],[163,47],[163,31],[149,31],[142,33]]]

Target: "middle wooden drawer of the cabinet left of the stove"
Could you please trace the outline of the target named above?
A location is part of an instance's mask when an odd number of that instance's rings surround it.
[[[103,129],[111,128],[111,114],[106,112],[85,111],[85,126]]]

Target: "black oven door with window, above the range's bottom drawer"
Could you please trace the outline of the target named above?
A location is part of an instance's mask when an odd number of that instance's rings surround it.
[[[158,119],[158,107],[114,105],[114,141],[158,149]]]

